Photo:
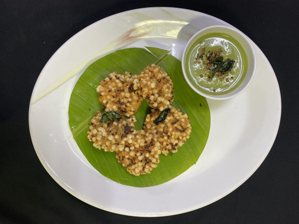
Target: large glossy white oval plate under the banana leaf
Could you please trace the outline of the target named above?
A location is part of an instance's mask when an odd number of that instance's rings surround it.
[[[188,39],[212,25],[231,26],[185,9],[131,10],[91,24],[57,50],[34,87],[29,127],[37,156],[62,188],[106,211],[166,216],[219,200],[253,174],[272,147],[281,113],[276,76],[254,43],[257,56],[254,79],[239,96],[223,101],[208,99],[211,128],[207,145],[196,165],[179,177],[147,188],[120,185],[97,172],[70,137],[71,91],[91,62],[118,48],[132,46],[172,50],[173,56],[181,59]]]

